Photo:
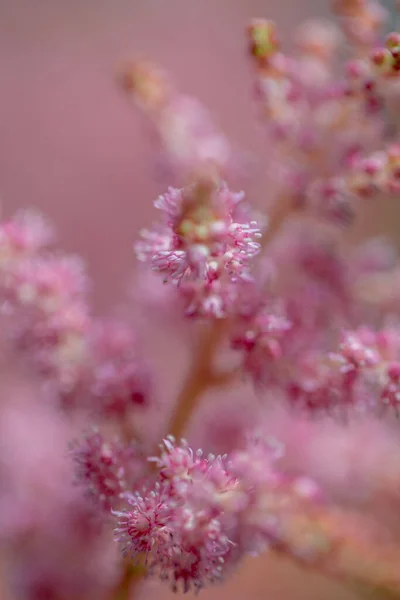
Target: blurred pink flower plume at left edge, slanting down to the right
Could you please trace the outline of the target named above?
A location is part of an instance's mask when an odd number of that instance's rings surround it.
[[[135,335],[123,322],[91,316],[81,260],[51,251],[51,239],[36,214],[17,214],[0,227],[0,293],[10,342],[65,406],[85,403],[103,417],[124,417],[151,396]]]

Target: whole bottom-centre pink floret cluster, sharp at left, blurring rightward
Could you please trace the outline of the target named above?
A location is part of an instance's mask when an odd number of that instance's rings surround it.
[[[114,513],[124,552],[145,555],[151,573],[186,592],[221,580],[246,553],[286,545],[285,512],[317,502],[319,490],[307,478],[280,474],[277,449],[256,439],[228,459],[164,440],[153,485],[128,495],[129,508]],[[318,551],[308,540],[307,552]]]

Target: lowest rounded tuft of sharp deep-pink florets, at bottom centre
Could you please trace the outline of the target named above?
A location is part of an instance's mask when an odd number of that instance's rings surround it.
[[[174,591],[180,584],[186,592],[220,580],[231,544],[218,519],[158,494],[156,488],[145,499],[132,497],[131,511],[115,513],[124,552],[145,554],[150,573],[170,581]]]

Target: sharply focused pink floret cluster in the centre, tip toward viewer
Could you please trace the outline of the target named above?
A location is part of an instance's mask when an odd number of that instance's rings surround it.
[[[155,206],[165,225],[144,230],[136,252],[179,286],[188,315],[222,318],[233,310],[236,284],[251,281],[250,262],[260,250],[261,232],[254,221],[235,222],[242,194],[221,184],[205,195],[192,187],[161,196]]]

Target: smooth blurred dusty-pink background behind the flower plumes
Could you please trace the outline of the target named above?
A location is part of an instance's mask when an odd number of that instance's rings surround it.
[[[245,25],[254,16],[275,19],[290,44],[296,23],[327,14],[328,0],[0,0],[3,213],[44,211],[65,250],[87,262],[95,310],[126,310],[132,244],[165,183],[157,177],[148,126],[116,85],[118,64],[138,55],[158,61],[178,87],[208,106],[250,159],[246,191],[262,206],[268,148],[252,103]],[[370,207],[356,235],[387,231],[397,238],[398,214],[384,201]],[[185,368],[185,349],[171,328],[157,329],[150,347],[168,396]],[[149,583],[141,595],[162,599],[169,592]],[[353,596],[285,561],[261,558],[202,597]]]

